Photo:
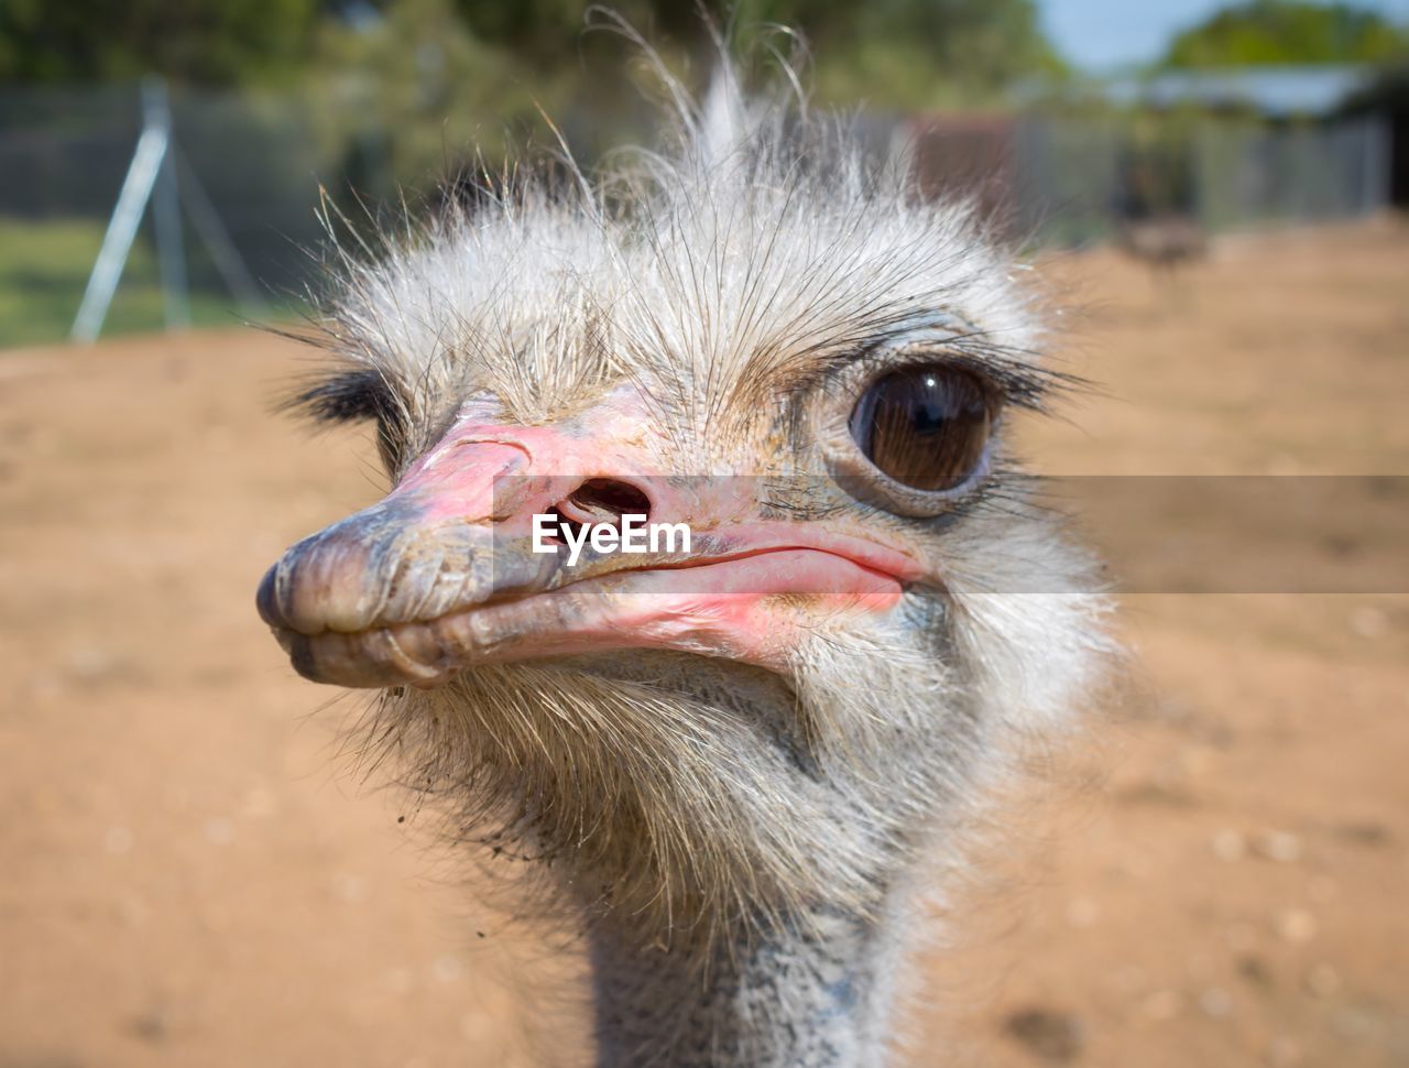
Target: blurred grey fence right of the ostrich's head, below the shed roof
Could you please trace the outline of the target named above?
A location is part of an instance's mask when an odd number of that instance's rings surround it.
[[[978,197],[1020,241],[1084,245],[1126,221],[1208,232],[1358,218],[1389,207],[1388,121],[941,117],[909,124],[920,187]]]

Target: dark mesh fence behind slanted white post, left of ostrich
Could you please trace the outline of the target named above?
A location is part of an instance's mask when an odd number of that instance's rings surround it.
[[[313,116],[283,97],[206,93],[173,94],[170,113],[194,320],[237,318],[211,227],[266,299],[286,303],[309,275],[300,249],[317,242],[318,183],[338,169]],[[0,93],[0,344],[68,333],[141,131],[135,86]],[[41,314],[17,317],[17,304]],[[162,321],[148,217],[108,325]]]

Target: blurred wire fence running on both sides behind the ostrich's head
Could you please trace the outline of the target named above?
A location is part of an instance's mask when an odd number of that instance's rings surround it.
[[[310,249],[323,240],[321,190],[355,214],[354,192],[376,203],[407,180],[392,172],[387,149],[399,131],[330,108],[330,99],[170,94],[192,321],[238,321],[231,258],[272,314],[293,311],[320,276]],[[1389,132],[1374,116],[1277,125],[1213,116],[872,116],[861,125],[868,141],[913,151],[923,193],[975,196],[1033,244],[1105,240],[1122,218],[1148,214],[1186,216],[1209,231],[1353,218],[1389,196]],[[562,128],[575,139],[593,128],[592,116],[568,116]],[[141,131],[137,86],[0,92],[0,347],[68,335]],[[457,162],[447,148],[447,163]],[[104,333],[165,321],[169,286],[152,214]]]

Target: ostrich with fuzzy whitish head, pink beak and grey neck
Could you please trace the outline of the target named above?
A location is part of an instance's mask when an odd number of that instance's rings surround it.
[[[372,421],[392,490],[258,607],[571,917],[599,1064],[876,1065],[936,871],[1102,672],[1006,444],[1062,376],[967,209],[659,75],[662,148],[340,255],[297,404]],[[627,517],[690,544],[568,564]]]

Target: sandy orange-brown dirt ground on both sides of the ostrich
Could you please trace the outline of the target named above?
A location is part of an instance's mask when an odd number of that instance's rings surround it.
[[[1110,252],[1048,268],[1103,392],[1024,428],[1038,469],[1409,473],[1405,224],[1223,240],[1172,293]],[[278,552],[379,485],[361,435],[269,414],[306,358],[0,354],[0,1068],[583,1047],[528,993],[572,962],[362,783],[352,704],[255,617]],[[1409,597],[1141,595],[1122,627],[1127,696],[998,817],[909,1062],[1409,1064]]]

